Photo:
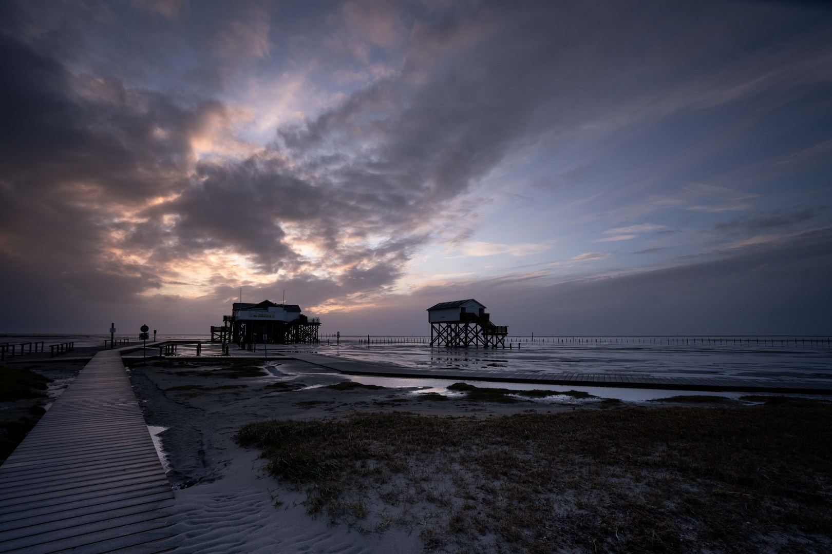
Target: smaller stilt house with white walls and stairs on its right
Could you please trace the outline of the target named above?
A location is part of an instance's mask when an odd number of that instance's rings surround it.
[[[508,326],[497,326],[473,298],[439,302],[428,308],[430,346],[506,347]]]

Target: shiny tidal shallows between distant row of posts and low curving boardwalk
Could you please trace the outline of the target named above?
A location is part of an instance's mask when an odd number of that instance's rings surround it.
[[[515,339],[516,340],[516,339]],[[814,341],[766,338],[701,339],[603,337],[582,342],[536,339],[513,342],[513,347],[432,348],[425,344],[364,345],[341,341],[320,344],[314,351],[353,360],[393,363],[414,369],[547,371],[656,375],[664,377],[745,377],[832,379],[832,347]],[[577,341],[577,339],[573,339]],[[557,341],[557,342],[556,342]],[[592,342],[583,342],[592,341]],[[596,342],[597,341],[597,342]],[[625,342],[627,341],[627,342]],[[632,342],[629,342],[632,341]],[[640,341],[640,342],[636,342]],[[782,341],[782,342],[781,342]],[[517,346],[520,346],[519,348]]]

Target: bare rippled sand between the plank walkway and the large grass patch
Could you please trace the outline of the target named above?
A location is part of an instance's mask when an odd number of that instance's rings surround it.
[[[414,395],[419,389],[414,387],[328,389],[326,385],[349,381],[349,376],[299,360],[255,364],[261,368],[259,375],[236,378],[228,376],[221,365],[200,368],[193,364],[149,364],[131,369],[131,382],[146,423],[166,428],[157,437],[170,464],[167,475],[175,488],[173,521],[181,552],[423,550],[418,532],[413,530],[391,527],[381,533],[362,532],[354,526],[333,524],[326,516],[307,514],[301,504],[305,493],[280,486],[259,470],[262,461],[257,451],[235,444],[233,436],[244,424],[270,418],[337,417],[362,410],[486,416],[530,409],[566,410],[575,404],[567,398],[564,405],[532,401],[473,405],[453,400],[420,402]],[[278,383],[302,383],[304,388],[267,388]],[[277,507],[275,500],[280,502]]]

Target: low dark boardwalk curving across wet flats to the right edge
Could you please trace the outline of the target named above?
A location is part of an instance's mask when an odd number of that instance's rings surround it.
[[[378,375],[384,377],[417,377],[423,379],[453,379],[496,381],[503,383],[533,383],[536,385],[579,385],[619,387],[630,389],[700,390],[710,392],[765,392],[807,395],[832,395],[832,380],[823,379],[745,379],[735,377],[657,377],[653,375],[624,375],[609,373],[575,373],[553,371],[505,370],[415,370],[396,365],[349,360],[344,357],[282,351],[287,357],[303,360],[329,370],[349,375]]]

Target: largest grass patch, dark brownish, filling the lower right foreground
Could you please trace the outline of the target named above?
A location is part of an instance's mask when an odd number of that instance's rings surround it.
[[[236,439],[305,488],[310,513],[354,522],[378,498],[428,549],[825,552],[832,540],[825,403],[365,413],[248,424]]]

